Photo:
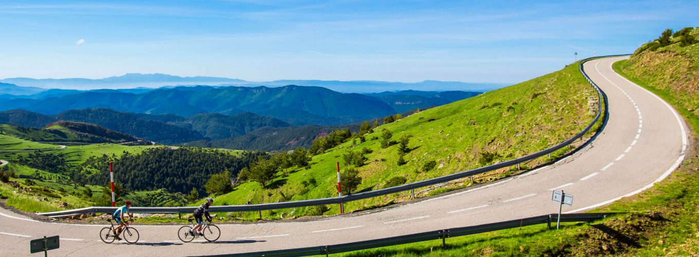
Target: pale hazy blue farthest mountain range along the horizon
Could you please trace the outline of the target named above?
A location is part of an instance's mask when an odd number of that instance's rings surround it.
[[[244,86],[244,87],[282,87],[286,85],[299,85],[307,87],[325,87],[334,91],[352,93],[374,93],[391,91],[396,89],[414,89],[422,91],[490,91],[505,87],[506,84],[498,83],[466,83],[466,82],[442,82],[425,80],[422,82],[384,82],[374,80],[338,81],[338,80],[274,80],[268,82],[250,82],[232,78],[217,77],[180,77],[167,74],[141,74],[127,73],[122,76],[114,76],[103,79],[64,78],[64,79],[34,79],[34,78],[6,78],[0,80],[21,87],[38,87],[42,89],[134,89],[138,87],[158,88],[164,86],[176,87],[181,85],[209,85],[209,86]],[[2,91],[0,95],[10,94]]]

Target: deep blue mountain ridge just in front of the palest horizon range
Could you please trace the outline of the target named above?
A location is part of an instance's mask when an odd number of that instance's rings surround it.
[[[135,90],[129,92],[127,90]],[[141,90],[141,91],[139,91]],[[45,97],[8,98],[0,110],[23,109],[45,115],[66,110],[111,108],[120,112],[172,114],[192,117],[201,113],[236,115],[253,112],[303,126],[342,125],[385,117],[415,108],[428,108],[477,92],[398,91],[375,96],[343,94],[323,87],[174,87],[145,89],[100,89],[93,91],[42,91]]]

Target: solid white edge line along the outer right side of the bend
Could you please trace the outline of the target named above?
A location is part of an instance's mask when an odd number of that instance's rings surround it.
[[[599,64],[599,63],[598,63],[598,64]],[[612,68],[612,64],[613,64],[613,62],[610,64],[610,68]],[[612,71],[614,71],[614,68],[612,68]],[[598,71],[598,72],[599,72],[599,71]],[[602,74],[602,73],[600,73],[600,75],[601,75],[601,74]],[[602,76],[604,77],[604,75],[602,75]],[[679,131],[681,132],[681,135],[682,135],[682,152],[680,152],[682,155],[680,155],[680,156],[677,158],[677,161],[675,161],[675,163],[672,164],[672,166],[670,166],[670,168],[668,168],[668,170],[665,170],[665,172],[663,173],[663,175],[661,175],[660,177],[658,177],[658,179],[656,179],[654,182],[651,182],[651,184],[647,184],[646,186],[643,186],[641,189],[638,189],[638,190],[636,190],[636,191],[627,193],[627,194],[624,195],[624,196],[619,196],[619,197],[614,198],[614,199],[611,199],[611,200],[606,200],[606,201],[604,201],[604,202],[602,202],[602,203],[597,203],[597,204],[595,204],[595,205],[590,205],[590,206],[588,206],[588,207],[582,207],[582,208],[580,208],[580,209],[568,211],[568,212],[565,212],[565,213],[575,213],[575,212],[582,212],[582,211],[584,211],[584,210],[590,210],[590,209],[593,209],[593,208],[596,208],[596,207],[608,205],[608,204],[610,204],[610,203],[612,203],[612,202],[614,202],[614,201],[617,201],[617,200],[619,200],[619,199],[621,199],[621,198],[625,198],[625,197],[628,197],[628,196],[633,196],[633,195],[635,195],[635,194],[637,194],[637,193],[640,193],[640,192],[642,192],[642,191],[645,191],[645,190],[647,190],[647,189],[653,187],[654,184],[663,181],[663,179],[665,179],[665,177],[668,177],[668,176],[670,175],[670,173],[672,173],[673,170],[679,168],[679,165],[682,164],[682,161],[684,161],[684,156],[685,156],[685,153],[686,153],[686,150],[687,150],[687,137],[686,137],[687,132],[686,132],[686,130],[684,129],[684,124],[682,124],[682,119],[679,118],[679,114],[677,114],[677,111],[676,111],[675,109],[673,109],[672,106],[670,106],[670,104],[669,104],[668,102],[666,102],[665,100],[663,100],[663,98],[660,98],[660,96],[656,96],[655,94],[651,93],[651,91],[648,91],[648,89],[644,89],[643,87],[641,87],[641,86],[639,86],[639,85],[636,85],[634,82],[631,82],[630,80],[627,80],[626,78],[624,78],[624,76],[619,75],[619,78],[623,78],[624,80],[626,80],[626,81],[628,81],[629,83],[631,83],[631,85],[635,85],[636,87],[639,87],[640,89],[643,89],[644,91],[646,91],[646,92],[647,92],[648,94],[650,94],[651,96],[655,96],[655,98],[657,98],[658,101],[661,101],[662,103],[665,103],[665,106],[668,107],[668,109],[670,109],[670,112],[672,112],[673,115],[675,115],[675,119],[677,119],[677,124],[679,124]]]

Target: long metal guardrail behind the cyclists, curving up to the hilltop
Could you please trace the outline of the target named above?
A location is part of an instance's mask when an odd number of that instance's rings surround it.
[[[617,57],[617,56],[624,56],[628,54],[619,54],[619,55],[609,55],[609,56],[604,56],[604,57]],[[460,179],[463,177],[470,177],[473,175],[478,175],[482,174],[484,172],[489,172],[493,170],[497,170],[500,168],[505,168],[509,166],[514,166],[517,165],[518,163],[522,163],[525,161],[530,161],[532,159],[536,159],[541,156],[545,156],[547,154],[550,154],[552,152],[555,152],[558,149],[561,149],[563,147],[568,147],[572,142],[575,140],[578,140],[579,138],[582,138],[582,136],[590,131],[592,126],[598,122],[600,119],[600,116],[602,114],[602,102],[603,99],[606,101],[606,95],[604,92],[597,87],[595,82],[592,82],[590,80],[589,76],[585,73],[583,64],[585,61],[589,61],[591,59],[598,59],[598,58],[604,58],[604,57],[592,57],[588,59],[583,59],[579,62],[579,71],[584,75],[585,79],[590,82],[590,84],[596,89],[597,91],[597,96],[598,96],[598,112],[595,118],[588,124],[585,129],[580,131],[579,133],[575,134],[572,138],[569,138],[568,140],[565,140],[558,145],[554,145],[553,147],[549,147],[547,149],[544,149],[540,152],[535,152],[533,154],[528,154],[526,156],[519,157],[517,159],[512,159],[510,161],[503,161],[501,163],[495,163],[490,166],[484,166],[480,168],[475,168],[473,170],[466,170],[462,172],[456,172],[454,174],[450,175],[445,175],[442,177],[435,177],[433,179],[426,179],[422,180],[419,182],[412,182],[410,184],[404,184],[401,186],[393,186],[389,187],[386,189],[377,189],[374,191],[368,191],[368,192],[363,192],[363,193],[353,193],[351,195],[347,196],[341,196],[341,197],[332,197],[332,198],[319,198],[319,199],[311,199],[311,200],[297,200],[297,201],[290,201],[290,202],[282,202],[282,203],[261,203],[261,204],[256,204],[256,205],[219,205],[219,206],[212,206],[209,208],[211,212],[257,212],[257,211],[263,211],[263,210],[276,210],[276,209],[287,209],[287,208],[295,208],[295,207],[307,207],[307,206],[314,206],[314,205],[331,205],[331,204],[339,204],[339,203],[347,203],[355,200],[361,200],[361,199],[366,199],[366,198],[373,198],[376,196],[384,196],[390,193],[398,193],[402,191],[410,191],[412,189],[417,189],[425,186],[432,186],[435,184],[441,184],[443,182],[449,182],[454,179]],[[605,113],[607,112],[607,105],[605,105]],[[603,120],[603,125],[605,124],[606,119]],[[194,209],[196,207],[132,207],[130,212],[132,213],[164,213],[164,214],[175,214],[175,213],[191,213],[194,212]],[[66,210],[66,211],[59,211],[59,212],[44,212],[44,213],[38,213],[38,215],[43,215],[43,216],[50,216],[53,218],[58,218],[58,217],[64,217],[64,216],[73,216],[77,214],[90,214],[90,213],[111,213],[116,210],[116,207],[87,207],[87,208],[82,208],[82,209],[77,209],[77,210]]]

